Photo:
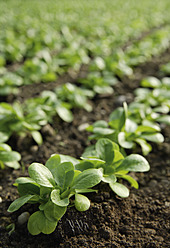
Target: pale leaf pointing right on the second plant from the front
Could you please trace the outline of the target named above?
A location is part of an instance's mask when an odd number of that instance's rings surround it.
[[[144,157],[138,154],[131,154],[116,168],[116,172],[121,170],[145,172],[149,169],[149,163]]]

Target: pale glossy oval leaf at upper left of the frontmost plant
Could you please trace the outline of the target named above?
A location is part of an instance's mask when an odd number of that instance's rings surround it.
[[[55,185],[53,175],[47,167],[39,163],[33,163],[28,168],[30,177],[39,185],[52,188]]]

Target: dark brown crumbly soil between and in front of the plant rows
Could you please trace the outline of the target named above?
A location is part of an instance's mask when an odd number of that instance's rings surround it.
[[[107,185],[100,184],[98,193],[88,195],[91,207],[86,212],[78,212],[74,207],[59,221],[56,230],[50,235],[32,236],[26,224],[19,225],[18,216],[28,211],[33,213],[37,206],[25,205],[14,213],[8,213],[10,203],[18,197],[13,186],[19,176],[27,176],[27,167],[32,162],[45,163],[51,154],[60,153],[79,158],[90,142],[88,133],[81,131],[82,125],[96,120],[108,120],[109,114],[123,101],[130,103],[134,99],[133,90],[146,76],[157,76],[161,64],[169,62],[170,51],[154,57],[134,69],[134,77],[124,78],[114,87],[112,95],[97,96],[91,102],[93,111],[74,109],[74,121],[64,123],[57,117],[52,125],[42,128],[44,143],[38,147],[30,137],[21,139],[13,136],[9,144],[22,155],[22,168],[14,171],[5,169],[0,173],[0,248],[71,248],[71,247],[170,247],[170,127],[163,127],[165,142],[153,145],[153,151],[147,156],[151,170],[147,173],[135,173],[132,176],[139,182],[139,189],[130,188],[130,196],[121,199]],[[85,72],[86,73],[86,70]],[[67,78],[67,77],[66,77]],[[68,79],[68,78],[67,78]],[[60,83],[64,80],[60,81]],[[76,79],[72,80],[76,83]],[[45,89],[56,87],[46,84]],[[39,88],[38,88],[39,87]],[[48,88],[49,87],[49,88]],[[44,90],[43,84],[35,86]],[[32,92],[32,93],[31,93]],[[29,95],[28,95],[29,94]],[[37,94],[37,93],[36,93]],[[18,99],[35,96],[34,87],[22,88]],[[13,99],[13,98],[8,98]],[[10,100],[9,100],[10,101]],[[15,231],[9,235],[6,226],[15,223]]]

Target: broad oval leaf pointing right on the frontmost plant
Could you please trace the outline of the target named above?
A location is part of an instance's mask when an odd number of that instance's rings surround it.
[[[103,173],[100,169],[88,169],[81,172],[75,179],[72,189],[87,189],[94,187],[102,180]]]

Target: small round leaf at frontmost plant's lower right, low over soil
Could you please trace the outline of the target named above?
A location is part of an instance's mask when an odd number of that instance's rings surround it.
[[[90,208],[89,199],[81,194],[75,194],[75,208],[78,211],[86,211]]]

